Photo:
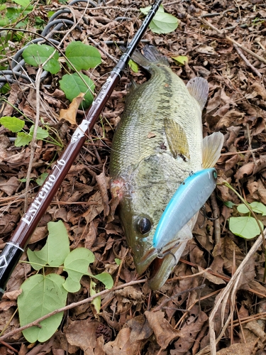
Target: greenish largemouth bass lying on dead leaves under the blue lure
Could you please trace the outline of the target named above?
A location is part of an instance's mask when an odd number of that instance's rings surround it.
[[[162,212],[179,185],[220,156],[223,135],[202,138],[201,111],[209,87],[201,77],[187,86],[172,72],[167,58],[152,46],[133,60],[150,73],[150,80],[131,89],[111,149],[111,194],[119,199],[119,217],[135,268],[142,274],[151,263],[149,286],[161,288],[187,241],[197,214],[165,246],[157,258],[153,236]],[[178,219],[178,217],[177,217]]]

